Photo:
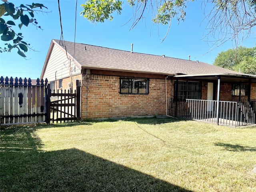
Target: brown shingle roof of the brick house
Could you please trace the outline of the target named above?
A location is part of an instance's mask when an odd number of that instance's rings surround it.
[[[60,43],[60,40],[54,41],[56,44]],[[82,68],[134,71],[153,74],[240,74],[204,62],[136,52],[131,53],[130,51],[104,48],[82,43],[75,43],[74,45],[74,42],[67,41],[63,41],[60,44],[62,48],[64,48],[63,45],[66,46],[67,52],[74,57]]]

